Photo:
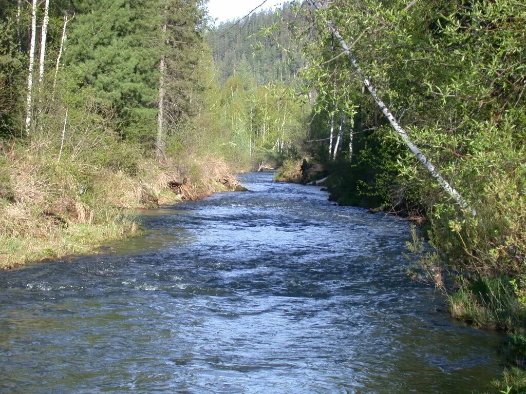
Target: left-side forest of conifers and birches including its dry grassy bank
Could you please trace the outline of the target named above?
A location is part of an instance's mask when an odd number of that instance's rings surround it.
[[[137,234],[123,210],[298,152],[304,106],[273,77],[223,78],[199,1],[3,0],[0,20],[3,267]]]

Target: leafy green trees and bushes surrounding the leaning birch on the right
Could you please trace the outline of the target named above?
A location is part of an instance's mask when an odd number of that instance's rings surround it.
[[[321,136],[328,136],[331,111],[358,112],[351,174],[340,172],[343,181],[335,186],[348,189],[336,190],[338,196],[360,203],[356,196],[377,195],[410,215],[428,215],[440,256],[454,270],[510,276],[520,289],[526,262],[526,7],[518,0],[406,7],[403,1],[330,2],[313,20],[315,29],[301,29],[298,39],[309,60],[305,91],[316,90],[317,112],[326,119]],[[337,57],[328,20],[353,44],[381,98],[476,208],[476,217],[450,201],[400,143],[348,59]]]

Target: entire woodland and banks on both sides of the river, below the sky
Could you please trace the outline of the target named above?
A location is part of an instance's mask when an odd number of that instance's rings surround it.
[[[526,392],[523,0],[292,2],[216,27],[205,6],[0,2],[0,267],[280,167],[413,223],[410,277],[505,331],[495,390]]]

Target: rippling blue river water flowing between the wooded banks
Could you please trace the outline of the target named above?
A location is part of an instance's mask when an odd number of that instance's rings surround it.
[[[314,186],[147,211],[106,253],[0,273],[1,393],[483,391],[501,338],[410,281],[410,227]]]

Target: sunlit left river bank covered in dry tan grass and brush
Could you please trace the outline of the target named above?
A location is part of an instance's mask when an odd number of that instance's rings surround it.
[[[137,209],[235,190],[232,168],[213,157],[184,162],[128,157],[100,167],[60,162],[17,147],[0,151],[0,269],[96,253],[141,234]]]

